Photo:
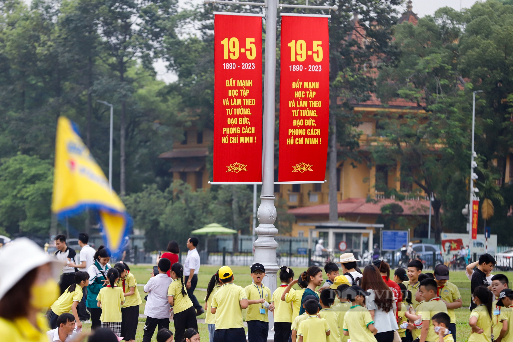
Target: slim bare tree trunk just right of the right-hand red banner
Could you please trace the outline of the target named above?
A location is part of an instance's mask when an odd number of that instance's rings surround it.
[[[337,96],[331,94],[331,108],[337,105]],[[337,200],[337,118],[335,110],[329,111],[329,126],[331,136],[329,137],[329,221],[339,219]]]

